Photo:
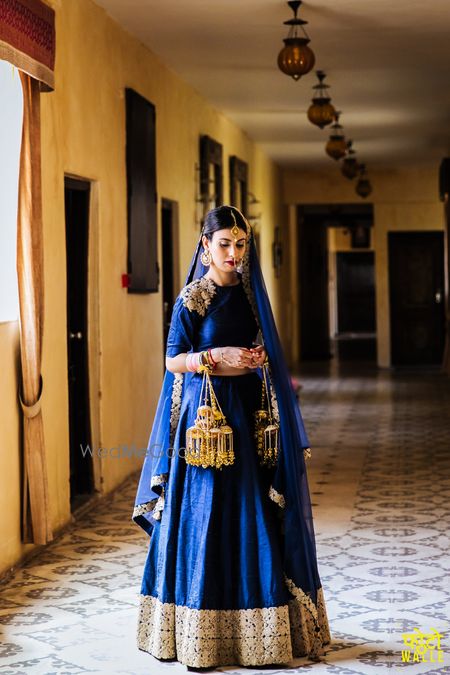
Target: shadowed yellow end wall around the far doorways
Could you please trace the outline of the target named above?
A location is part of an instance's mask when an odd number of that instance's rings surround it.
[[[374,205],[372,247],[375,251],[375,286],[378,365],[389,367],[389,271],[388,232],[398,230],[443,230],[442,204],[438,198],[438,167],[398,167],[370,172],[373,192],[366,200]],[[337,167],[325,171],[283,171],[283,201],[290,205],[291,223],[297,204],[337,204],[361,201],[354,183],[343,178]],[[295,229],[295,222],[291,229]],[[340,241],[340,244],[342,241]],[[295,255],[295,248],[293,255]],[[295,265],[294,258],[291,257]],[[298,289],[292,300],[298,311]],[[294,317],[294,321],[298,319]],[[298,345],[292,360],[298,360]]]

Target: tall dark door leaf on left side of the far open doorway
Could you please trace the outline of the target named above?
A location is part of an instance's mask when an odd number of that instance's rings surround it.
[[[327,227],[301,209],[298,214],[300,358],[329,359]]]

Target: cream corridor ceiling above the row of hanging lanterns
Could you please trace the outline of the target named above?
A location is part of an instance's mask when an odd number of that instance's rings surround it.
[[[306,119],[314,72],[276,59],[282,0],[96,0],[281,166],[322,167],[328,137]],[[309,0],[299,15],[361,161],[435,163],[450,151],[449,0]]]

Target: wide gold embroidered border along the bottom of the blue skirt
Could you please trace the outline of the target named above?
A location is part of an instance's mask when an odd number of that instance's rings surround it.
[[[319,655],[327,644],[324,638],[329,642],[322,589],[319,607],[318,633],[302,597],[279,607],[212,610],[141,595],[138,647],[156,658],[177,659],[193,668],[288,663],[298,656]]]

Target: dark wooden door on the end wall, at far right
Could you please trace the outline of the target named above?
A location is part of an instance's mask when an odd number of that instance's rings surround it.
[[[388,243],[392,365],[441,363],[443,233],[390,232]]]

